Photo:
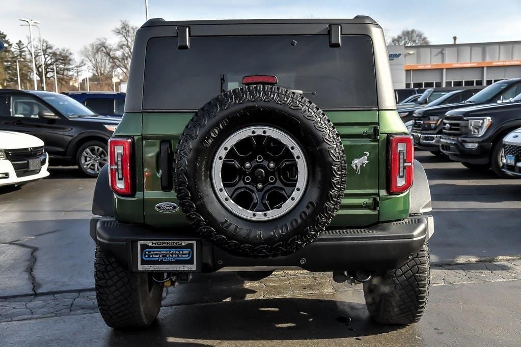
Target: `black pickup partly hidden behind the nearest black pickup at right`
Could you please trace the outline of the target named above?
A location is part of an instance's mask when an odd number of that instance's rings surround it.
[[[479,93],[458,104],[425,107],[413,114],[411,134],[418,149],[428,150],[440,155],[440,137],[445,112],[483,104],[496,104],[509,101],[521,93],[521,78],[499,81],[482,89]]]

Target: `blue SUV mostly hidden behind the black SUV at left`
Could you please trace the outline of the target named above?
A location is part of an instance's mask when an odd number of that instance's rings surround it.
[[[97,114],[121,118],[125,106],[125,93],[117,92],[64,92]]]

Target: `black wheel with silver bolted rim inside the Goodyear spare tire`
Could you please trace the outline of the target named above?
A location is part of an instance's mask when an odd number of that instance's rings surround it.
[[[251,126],[229,136],[212,165],[212,184],[221,203],[251,221],[268,221],[289,212],[302,198],[307,164],[288,134]]]

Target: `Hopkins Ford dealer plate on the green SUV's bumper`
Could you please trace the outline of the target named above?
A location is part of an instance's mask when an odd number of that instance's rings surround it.
[[[138,270],[196,270],[195,246],[195,241],[138,241]]]

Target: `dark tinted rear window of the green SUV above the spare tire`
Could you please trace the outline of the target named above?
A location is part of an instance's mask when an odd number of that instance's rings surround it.
[[[296,44],[295,44],[295,42]],[[146,49],[143,109],[196,110],[241,85],[243,76],[275,75],[323,109],[376,108],[373,47],[368,36],[327,35],[155,37]]]

